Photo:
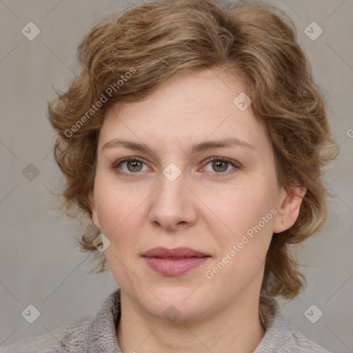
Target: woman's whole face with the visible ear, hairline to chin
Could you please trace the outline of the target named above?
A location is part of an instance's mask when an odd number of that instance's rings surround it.
[[[242,92],[225,72],[201,70],[106,114],[92,220],[110,241],[105,256],[122,293],[159,319],[256,302],[272,233],[298,215],[301,199],[279,188],[272,146],[251,105],[236,99]],[[191,250],[147,254],[160,247]]]

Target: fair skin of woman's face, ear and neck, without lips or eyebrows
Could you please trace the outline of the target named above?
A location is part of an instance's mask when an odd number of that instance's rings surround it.
[[[272,234],[295,223],[306,190],[292,196],[279,187],[263,125],[251,105],[242,112],[233,103],[241,92],[241,80],[220,68],[203,69],[177,74],[145,101],[117,103],[106,113],[90,202],[94,225],[110,240],[105,256],[121,288],[117,339],[124,353],[254,352],[263,338],[258,305],[265,256]],[[228,137],[254,148],[188,153],[194,143]],[[117,138],[145,143],[154,153],[102,150]],[[119,164],[124,157],[143,163]],[[235,166],[212,165],[210,157]],[[163,174],[170,163],[181,172],[174,181]],[[261,231],[206,278],[273,208],[277,214]],[[141,257],[158,246],[211,257],[185,274],[165,276]],[[163,314],[170,305],[179,313],[176,321]]]

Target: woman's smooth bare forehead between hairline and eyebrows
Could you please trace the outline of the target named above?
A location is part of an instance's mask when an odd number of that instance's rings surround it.
[[[234,104],[243,82],[223,70],[183,72],[163,83],[144,101],[120,102],[105,114],[99,144],[123,137],[146,145],[193,145],[206,139],[238,138],[261,145],[263,127],[251,105]]]

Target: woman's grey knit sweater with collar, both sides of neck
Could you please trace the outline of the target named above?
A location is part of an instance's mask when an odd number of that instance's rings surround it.
[[[276,299],[261,296],[259,312],[265,325],[265,336],[254,353],[330,353],[288,327]],[[121,353],[116,336],[119,319],[118,289],[105,299],[96,315],[63,325],[50,334],[22,339],[0,348],[0,352]]]

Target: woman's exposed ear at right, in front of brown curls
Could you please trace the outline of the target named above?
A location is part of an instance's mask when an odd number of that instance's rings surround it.
[[[281,202],[279,203],[279,213],[274,222],[274,233],[281,233],[294,225],[299,216],[301,202],[306,191],[307,188],[305,186],[292,187],[290,188],[290,192],[281,188]]]

